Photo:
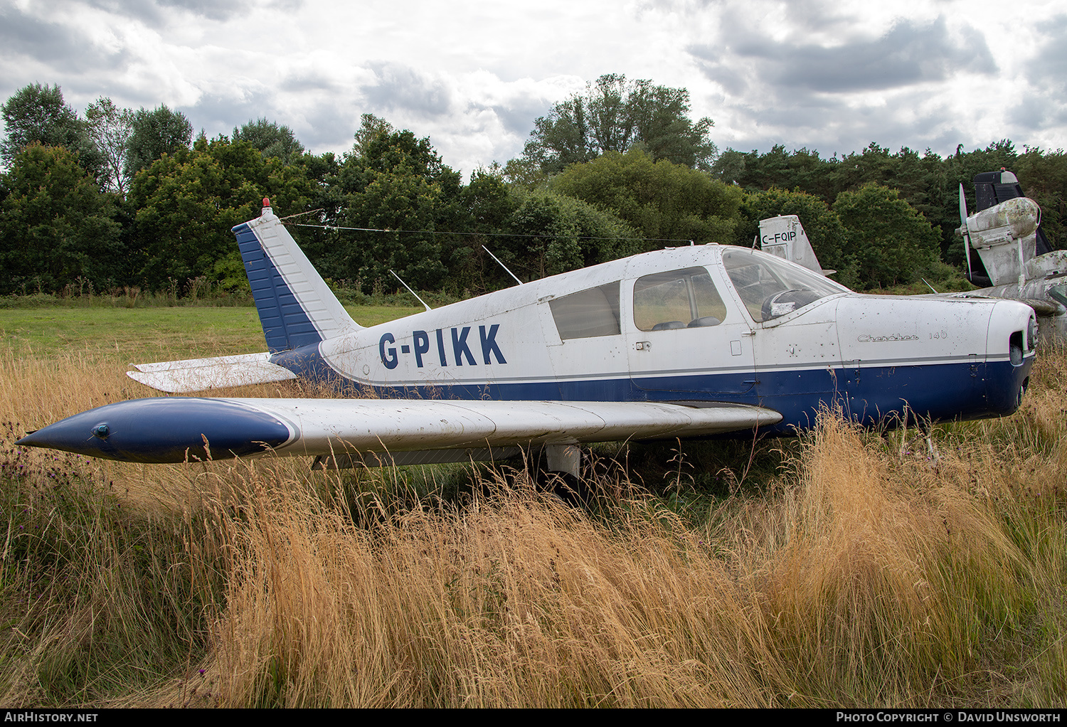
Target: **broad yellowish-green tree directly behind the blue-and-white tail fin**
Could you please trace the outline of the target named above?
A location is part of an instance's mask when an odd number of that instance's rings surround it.
[[[244,286],[230,227],[256,217],[265,196],[285,216],[306,210],[310,194],[303,165],[264,159],[248,142],[202,138],[160,157],[133,177],[129,194],[144,284],[159,289],[205,275]]]

